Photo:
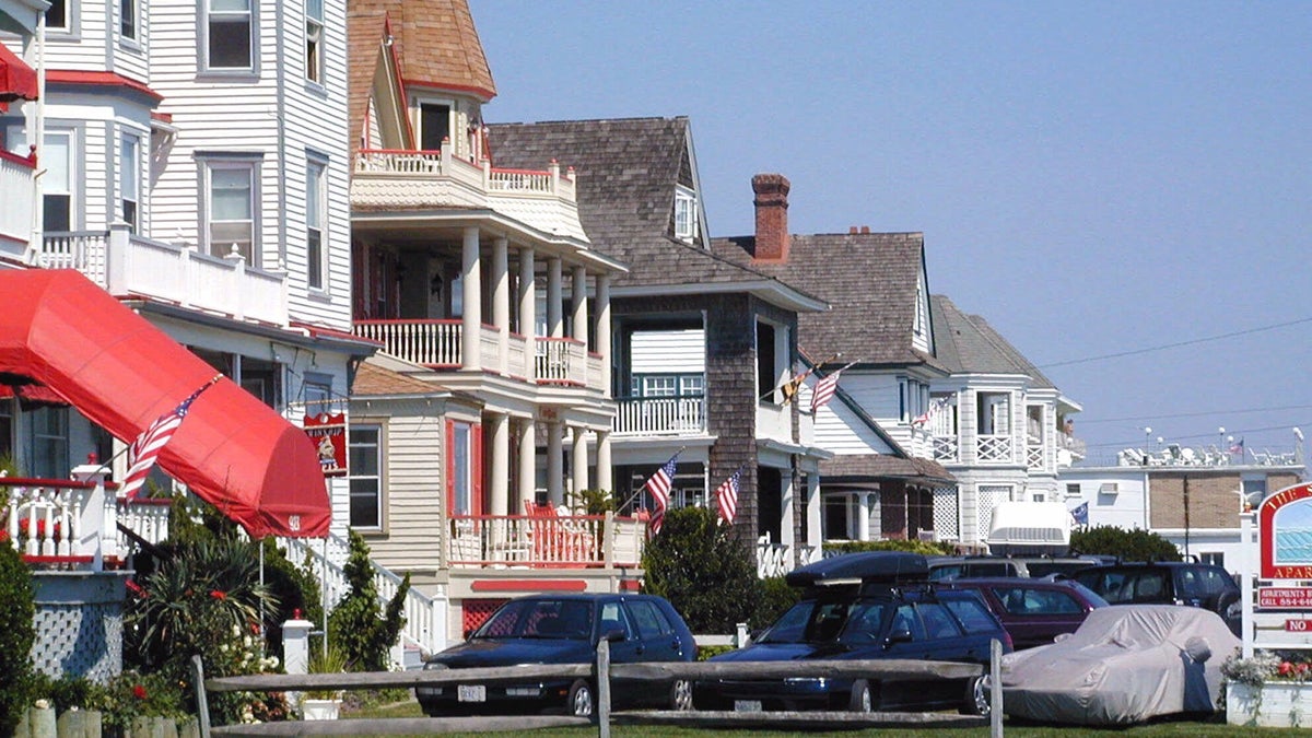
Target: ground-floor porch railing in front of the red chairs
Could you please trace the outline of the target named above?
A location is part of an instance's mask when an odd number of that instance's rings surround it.
[[[638,566],[646,521],[606,515],[463,515],[447,519],[453,569],[589,569]]]

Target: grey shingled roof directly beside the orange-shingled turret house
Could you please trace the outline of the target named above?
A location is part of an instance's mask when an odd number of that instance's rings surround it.
[[[824,307],[764,271],[674,238],[676,188],[697,189],[686,117],[496,123],[488,138],[497,167],[555,159],[575,169],[579,219],[592,248],[630,268],[615,281],[617,294],[668,294],[673,285],[687,285],[754,292],[792,310]]]

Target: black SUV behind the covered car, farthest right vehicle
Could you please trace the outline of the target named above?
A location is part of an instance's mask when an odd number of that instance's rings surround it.
[[[1210,609],[1239,636],[1239,584],[1220,566],[1186,561],[1118,563],[1077,571],[1072,578],[1111,604],[1177,604]]]

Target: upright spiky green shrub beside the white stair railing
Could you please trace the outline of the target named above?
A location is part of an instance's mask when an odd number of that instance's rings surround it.
[[[328,615],[328,642],[346,658],[348,671],[387,671],[388,651],[405,626],[409,574],[387,603],[387,612],[380,613],[369,544],[354,531],[345,574],[350,591]]]

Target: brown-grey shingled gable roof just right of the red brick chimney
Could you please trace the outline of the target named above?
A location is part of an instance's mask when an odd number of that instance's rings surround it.
[[[841,352],[844,364],[857,361],[858,368],[926,365],[943,370],[935,357],[912,345],[924,234],[792,235],[785,263],[753,263],[754,242],[741,236],[711,243],[715,253],[829,303],[828,313],[798,315],[798,341],[812,360]]]

